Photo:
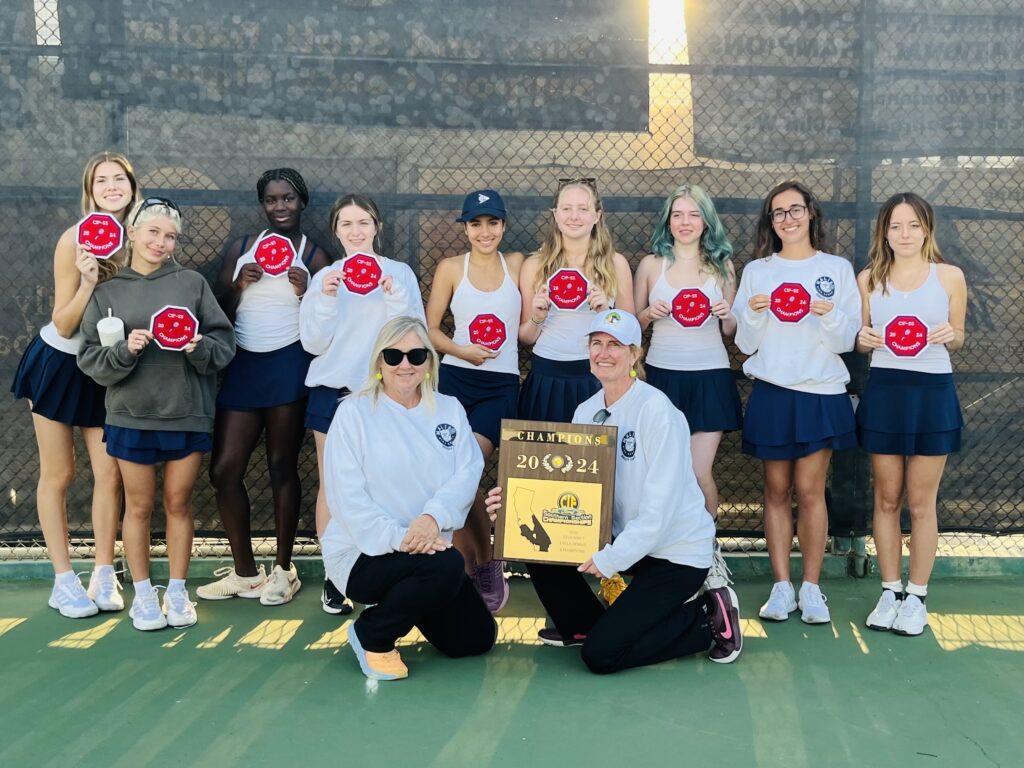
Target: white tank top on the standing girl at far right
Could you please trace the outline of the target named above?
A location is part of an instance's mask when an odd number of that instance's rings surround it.
[[[899,291],[876,289],[868,299],[871,328],[885,346],[871,352],[871,368],[896,368],[924,374],[952,373],[945,344],[929,344],[928,332],[949,322],[949,296],[939,282],[935,264],[921,288]]]

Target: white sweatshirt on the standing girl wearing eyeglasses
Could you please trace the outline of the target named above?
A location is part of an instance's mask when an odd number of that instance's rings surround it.
[[[752,296],[772,295],[783,283],[803,286],[809,301],[825,299],[833,310],[819,317],[808,312],[797,323],[780,322],[771,311],[755,312]],[[860,329],[860,294],[850,262],[818,251],[809,259],[772,254],[743,268],[736,299],[736,346],[751,355],[743,373],[799,392],[842,394],[850,373],[842,352],[849,352]]]

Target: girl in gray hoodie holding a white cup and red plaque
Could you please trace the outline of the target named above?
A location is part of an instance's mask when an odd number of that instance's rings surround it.
[[[124,478],[123,536],[135,586],[129,615],[137,630],[189,627],[197,621],[185,589],[193,489],[211,447],[217,372],[234,354],[234,334],[206,280],[171,258],[181,231],[178,207],[147,198],[127,223],[129,266],[93,293],[78,365],[106,387],[103,436]],[[97,324],[110,314],[131,331],[108,345]],[[171,571],[163,608],[150,582],[158,464]]]

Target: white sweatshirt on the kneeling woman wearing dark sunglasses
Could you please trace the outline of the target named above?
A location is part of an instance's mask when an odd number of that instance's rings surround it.
[[[421,514],[449,541],[466,522],[483,473],[483,455],[455,397],[407,409],[385,394],[353,395],[327,433],[324,488],[331,519],[321,538],[331,581],[347,591],[360,554],[397,552]],[[427,555],[424,555],[426,557]]]

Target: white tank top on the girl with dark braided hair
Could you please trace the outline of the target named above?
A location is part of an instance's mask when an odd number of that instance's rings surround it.
[[[253,241],[252,246],[239,256],[231,280],[238,280],[239,272],[246,264],[256,263],[256,245],[266,234],[264,229]],[[292,266],[309,273],[302,254],[306,249],[306,236],[296,250]],[[288,274],[272,278],[264,273],[256,283],[242,292],[239,306],[234,310],[234,340],[240,347],[250,352],[272,352],[299,340],[299,301]]]

